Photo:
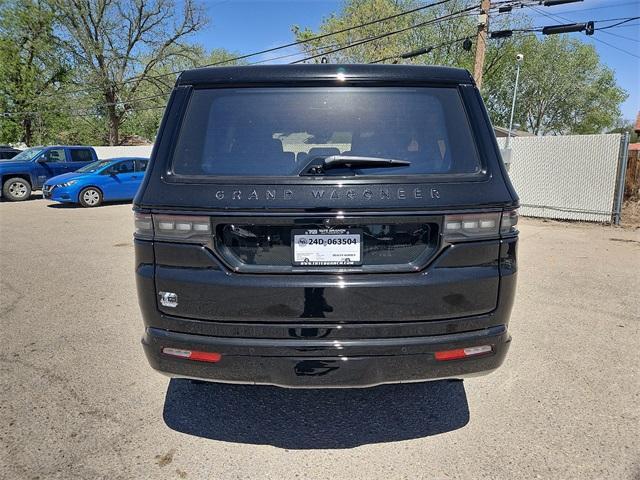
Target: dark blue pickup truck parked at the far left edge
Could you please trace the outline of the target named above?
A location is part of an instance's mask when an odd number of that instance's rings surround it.
[[[0,162],[2,197],[14,202],[26,200],[33,190],[57,175],[73,172],[98,160],[91,147],[55,145],[32,147],[11,160]]]

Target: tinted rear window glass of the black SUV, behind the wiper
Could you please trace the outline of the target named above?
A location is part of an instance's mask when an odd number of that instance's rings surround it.
[[[244,88],[192,93],[173,172],[297,176],[330,155],[410,166],[358,175],[472,174],[481,170],[455,88]],[[327,174],[344,174],[344,169]]]

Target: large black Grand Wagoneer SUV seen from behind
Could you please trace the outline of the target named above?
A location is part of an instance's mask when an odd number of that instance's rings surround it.
[[[134,206],[147,358],[290,387],[493,370],[517,206],[465,70],[184,72]]]

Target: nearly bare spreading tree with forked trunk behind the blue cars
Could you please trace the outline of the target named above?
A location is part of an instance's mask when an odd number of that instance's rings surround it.
[[[154,69],[192,51],[183,41],[207,22],[195,1],[178,8],[173,0],[51,0],[82,83],[104,100],[110,145]]]

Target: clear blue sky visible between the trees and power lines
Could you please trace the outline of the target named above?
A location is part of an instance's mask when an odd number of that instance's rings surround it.
[[[334,0],[204,0],[210,22],[199,32],[195,41],[207,49],[225,48],[239,53],[251,53],[294,41],[292,25],[317,29],[322,19],[338,12],[341,1]],[[427,1],[425,1],[427,3]],[[584,0],[580,3],[553,7],[518,9],[532,18],[535,26],[560,23],[607,20],[640,16],[640,0]],[[596,23],[599,26],[616,23]],[[593,36],[573,33],[583,41],[594,45],[601,61],[616,75],[618,85],[629,97],[622,105],[623,118],[635,120],[640,110],[640,21],[624,26],[596,31]],[[271,54],[252,57],[249,61],[287,63],[300,58],[293,56],[274,60],[276,56],[297,52],[296,49],[279,50]]]

